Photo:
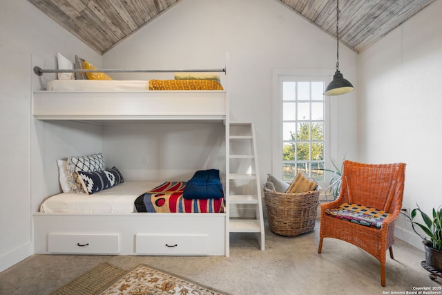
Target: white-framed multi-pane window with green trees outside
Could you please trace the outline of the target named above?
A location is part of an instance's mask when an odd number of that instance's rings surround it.
[[[330,150],[329,103],[323,93],[330,77],[308,74],[274,75],[273,173],[291,182],[301,172],[323,186]]]

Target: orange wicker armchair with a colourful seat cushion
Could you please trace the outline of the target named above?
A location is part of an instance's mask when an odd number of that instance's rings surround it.
[[[342,180],[338,198],[321,204],[318,253],[321,253],[324,238],[350,242],[379,260],[381,285],[385,286],[385,252],[389,249],[390,257],[394,258],[394,220],[398,218],[402,207],[405,164],[363,164],[346,160],[343,164]],[[345,216],[349,211],[338,210],[343,209],[344,203],[363,205],[368,207],[366,209],[369,211],[383,210],[387,214],[381,212],[383,216],[377,220],[377,227],[371,227],[373,224],[367,226],[365,222],[361,222],[365,224],[361,225],[355,223],[355,220],[349,222],[349,219],[353,218]],[[367,217],[365,213],[359,215]]]

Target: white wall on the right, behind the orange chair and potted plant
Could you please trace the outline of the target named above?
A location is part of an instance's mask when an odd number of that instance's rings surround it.
[[[407,163],[403,205],[427,213],[442,204],[441,12],[435,1],[359,55],[359,159]],[[422,248],[403,220],[396,236]]]

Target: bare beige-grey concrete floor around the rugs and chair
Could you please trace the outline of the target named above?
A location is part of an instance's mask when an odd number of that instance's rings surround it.
[[[325,238],[318,254],[318,232],[318,221],[314,231],[293,238],[273,234],[267,225],[265,251],[253,234],[231,234],[228,258],[33,255],[0,273],[0,294],[50,294],[104,262],[127,270],[146,264],[238,295],[405,294],[421,287],[439,292],[427,294],[442,294],[442,278],[430,280],[421,267],[423,250],[396,239],[395,259],[387,254],[387,286],[382,287],[378,260],[332,238]]]

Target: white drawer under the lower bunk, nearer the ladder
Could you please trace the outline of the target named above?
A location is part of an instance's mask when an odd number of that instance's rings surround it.
[[[137,234],[137,254],[207,255],[209,237],[205,234]]]

